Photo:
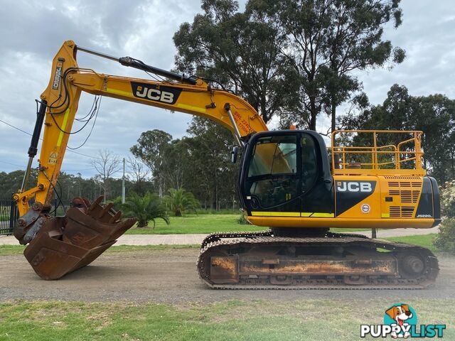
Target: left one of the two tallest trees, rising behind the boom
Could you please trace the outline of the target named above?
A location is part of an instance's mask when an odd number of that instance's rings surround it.
[[[203,0],[201,7],[203,14],[183,23],[173,36],[177,70],[218,80],[267,123],[287,94],[286,65],[279,53],[284,40],[277,23],[248,4],[239,13],[237,1]]]

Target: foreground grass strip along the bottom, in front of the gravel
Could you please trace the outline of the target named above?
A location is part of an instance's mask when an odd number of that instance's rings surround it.
[[[445,323],[444,339],[455,340],[455,300],[407,303],[419,324]],[[15,301],[0,303],[0,340],[360,340],[360,324],[382,323],[388,304],[379,298],[184,305]]]

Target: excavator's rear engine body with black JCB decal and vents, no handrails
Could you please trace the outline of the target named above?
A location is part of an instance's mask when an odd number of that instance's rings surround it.
[[[336,175],[334,213],[259,212],[247,219],[263,227],[431,228],[440,222],[439,193],[431,178],[393,175]],[[435,205],[436,204],[436,205]]]

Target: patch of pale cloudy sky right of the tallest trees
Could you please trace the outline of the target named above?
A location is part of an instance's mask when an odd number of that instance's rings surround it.
[[[392,70],[358,72],[370,102],[380,104],[390,87],[405,85],[410,94],[442,93],[455,98],[455,7],[445,1],[402,1],[403,23],[388,26],[385,39],[406,50],[405,61]]]

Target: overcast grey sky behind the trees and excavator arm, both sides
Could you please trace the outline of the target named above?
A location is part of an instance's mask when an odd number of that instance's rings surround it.
[[[401,6],[402,26],[387,27],[385,38],[404,48],[407,58],[392,70],[358,74],[370,102],[383,102],[394,83],[405,85],[412,95],[442,93],[455,98],[454,2],[402,0]],[[198,0],[2,0],[0,120],[33,131],[35,99],[48,84],[53,56],[63,41],[73,39],[80,46],[110,55],[130,55],[169,70],[176,53],[173,33],[181,23],[192,21],[199,11]],[[77,61],[80,67],[97,72],[147,77],[144,72],[92,55],[79,53]],[[91,95],[82,94],[79,116],[87,114],[92,99]],[[186,134],[190,119],[187,114],[103,97],[95,129],[87,144],[77,151],[96,156],[98,150],[107,148],[119,156],[128,156],[142,131],[161,129],[181,137]],[[323,130],[326,122],[322,118],[319,129]],[[79,146],[88,131],[71,136],[69,146]],[[0,171],[24,168],[29,144],[30,136],[0,122]],[[63,171],[93,175],[87,156],[67,152]]]

